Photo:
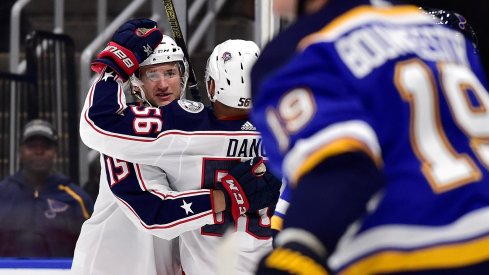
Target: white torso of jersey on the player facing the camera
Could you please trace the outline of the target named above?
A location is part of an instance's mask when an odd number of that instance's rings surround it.
[[[76,243],[71,274],[73,275],[180,275],[178,238],[165,240],[141,229],[129,209],[119,200],[107,182],[107,156],[100,156],[101,177],[99,195],[92,216],[82,226]],[[122,163],[122,162],[119,162]],[[120,184],[138,177],[146,184],[164,186],[165,173],[158,167],[140,167],[139,173],[130,174]],[[107,169],[107,167],[109,167]],[[126,213],[124,213],[126,212]]]

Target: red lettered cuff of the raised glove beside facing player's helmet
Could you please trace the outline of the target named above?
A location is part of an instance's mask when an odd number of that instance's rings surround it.
[[[111,67],[124,81],[139,68],[134,53],[113,41],[92,62],[92,70],[99,72],[104,65]]]

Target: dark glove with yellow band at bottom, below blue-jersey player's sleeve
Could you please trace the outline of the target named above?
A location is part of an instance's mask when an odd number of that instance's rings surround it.
[[[290,242],[265,256],[256,275],[327,275],[330,274],[321,259],[307,246]]]

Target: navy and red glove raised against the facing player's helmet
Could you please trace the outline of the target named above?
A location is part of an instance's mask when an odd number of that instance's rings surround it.
[[[109,66],[125,81],[139,68],[139,63],[153,53],[162,38],[155,21],[130,20],[119,27],[112,41],[92,61],[92,70],[100,73]]]

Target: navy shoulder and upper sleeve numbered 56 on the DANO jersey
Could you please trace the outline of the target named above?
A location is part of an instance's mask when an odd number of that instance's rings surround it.
[[[104,72],[89,94],[89,109],[83,119],[104,134],[156,138],[166,131],[237,131],[247,118],[218,120],[212,109],[190,100],[175,100],[157,107],[125,105],[114,73]],[[246,128],[246,127],[245,127]]]

